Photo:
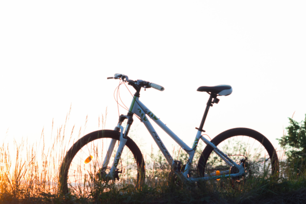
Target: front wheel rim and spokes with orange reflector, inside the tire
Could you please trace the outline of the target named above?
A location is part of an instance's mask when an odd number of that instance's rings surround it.
[[[105,173],[101,174],[101,171],[106,170],[107,173],[112,166],[115,150],[118,149],[118,140],[115,140],[116,144],[110,157],[109,168],[103,169],[103,161],[111,140],[111,138],[93,140],[84,145],[73,157],[67,174],[67,188],[71,194],[88,196],[97,187],[108,191],[112,187],[122,188],[124,185],[137,185],[139,178],[137,163],[133,152],[127,146],[124,146],[117,166],[118,171],[122,171],[118,173],[119,181],[107,180],[105,176],[100,176],[105,175]]]

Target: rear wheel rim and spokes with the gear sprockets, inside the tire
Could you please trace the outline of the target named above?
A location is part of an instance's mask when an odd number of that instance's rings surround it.
[[[235,135],[224,139],[223,141],[212,141],[218,149],[228,156],[237,164],[244,165],[245,175],[235,177],[232,180],[235,182],[245,181],[250,177],[265,177],[277,173],[277,157],[275,157],[274,148],[267,146],[266,138],[258,141],[250,136]],[[266,146],[266,147],[265,147]],[[241,159],[246,162],[241,162]],[[217,171],[231,170],[231,173],[236,173],[235,168],[230,168],[217,154],[210,151],[209,157],[206,156],[203,163],[205,166],[205,173],[216,173]]]

